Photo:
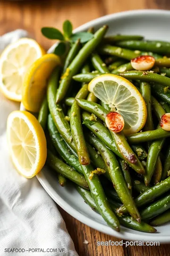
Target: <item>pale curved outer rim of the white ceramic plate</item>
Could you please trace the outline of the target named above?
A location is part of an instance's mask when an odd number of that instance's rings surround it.
[[[165,9],[140,9],[140,10],[129,10],[129,11],[122,11],[118,13],[113,13],[109,15],[102,16],[100,18],[93,19],[89,22],[86,22],[85,24],[77,27],[74,29],[74,32],[79,32],[82,30],[87,29],[90,26],[97,26],[99,23],[103,22],[108,22],[113,19],[117,18],[122,18],[122,17],[128,17],[132,15],[145,15],[145,14],[150,14],[150,15],[170,15],[170,10],[165,10]],[[56,44],[51,46],[51,48],[48,50],[48,53],[51,53],[54,49]],[[21,105],[22,108],[22,105]],[[44,167],[43,167],[44,168]],[[43,171],[43,169],[42,169]],[[68,214],[70,214],[72,217],[75,219],[79,220],[80,222],[84,223],[85,225],[98,230],[102,233],[105,233],[107,235],[110,235],[115,238],[119,239],[125,239],[125,240],[130,240],[130,241],[159,241],[161,243],[170,243],[170,237],[168,235],[162,236],[161,233],[143,233],[141,234],[134,234],[131,233],[130,231],[125,231],[124,233],[122,232],[116,232],[113,229],[110,229],[109,226],[101,224],[99,222],[96,222],[95,220],[90,219],[89,217],[86,217],[83,213],[78,212],[76,209],[74,209],[70,204],[68,204],[60,195],[51,187],[49,184],[48,180],[46,179],[45,175],[43,172],[40,172],[39,174],[36,175],[37,179],[41,183],[42,187],[45,189],[45,191],[51,196],[51,198]],[[58,197],[54,196],[54,193],[58,194]],[[110,231],[111,230],[111,231]],[[128,229],[130,230],[130,229]],[[128,237],[127,237],[128,236]]]

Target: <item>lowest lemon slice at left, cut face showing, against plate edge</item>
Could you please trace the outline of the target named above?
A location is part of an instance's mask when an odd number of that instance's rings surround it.
[[[41,171],[47,157],[47,146],[38,120],[26,111],[11,112],[7,121],[7,137],[17,171],[26,178],[32,178]]]

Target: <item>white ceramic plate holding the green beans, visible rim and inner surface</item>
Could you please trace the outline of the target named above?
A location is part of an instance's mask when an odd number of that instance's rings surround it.
[[[170,41],[170,11],[166,10],[135,10],[111,14],[86,23],[76,28],[75,32],[86,30],[88,27],[98,29],[104,24],[109,25],[108,34],[143,35],[147,39]],[[158,227],[155,234],[142,233],[124,227],[121,228],[121,232],[116,232],[99,214],[91,210],[73,186],[67,185],[62,188],[47,167],[43,168],[37,178],[61,208],[93,229],[125,240],[170,242],[170,224]]]

